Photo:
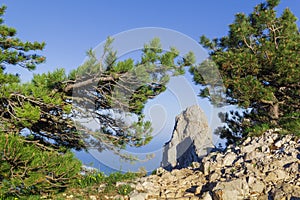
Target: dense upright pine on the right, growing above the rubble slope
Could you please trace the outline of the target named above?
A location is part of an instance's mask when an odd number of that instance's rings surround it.
[[[222,75],[227,102],[245,109],[223,115],[228,126],[221,135],[229,143],[272,127],[300,135],[300,34],[288,8],[277,16],[279,3],[267,0],[248,16],[238,13],[225,37],[201,37]],[[205,67],[191,69],[196,82],[204,83],[198,72]]]

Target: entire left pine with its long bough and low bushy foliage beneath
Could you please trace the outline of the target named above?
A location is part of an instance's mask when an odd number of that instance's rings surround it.
[[[0,8],[0,199],[68,187],[81,166],[70,149],[119,153],[126,145],[147,144],[152,136],[145,103],[195,62],[191,52],[181,58],[173,47],[164,51],[157,38],[145,44],[140,60],[118,60],[108,38],[99,59],[89,51],[89,59],[69,75],[57,69],[20,83],[6,69],[34,70],[45,58],[32,52],[44,43],[16,38],[16,30],[3,24],[5,9]],[[123,116],[136,120],[128,124]],[[90,119],[98,122],[95,130],[81,124]]]

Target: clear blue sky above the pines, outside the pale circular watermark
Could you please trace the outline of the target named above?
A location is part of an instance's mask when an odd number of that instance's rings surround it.
[[[107,36],[133,28],[162,27],[184,33],[196,41],[227,34],[237,12],[250,13],[262,0],[2,0],[8,6],[5,23],[15,27],[22,40],[45,41],[47,62],[35,73],[63,67],[76,68],[85,52]],[[289,7],[300,17],[299,0],[282,0],[280,14]],[[299,26],[299,21],[298,21]],[[30,73],[22,71],[23,80]]]

